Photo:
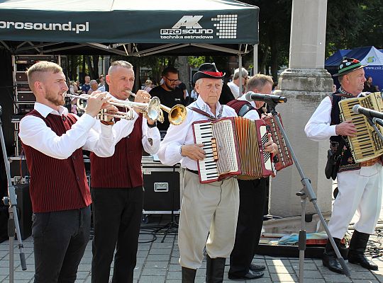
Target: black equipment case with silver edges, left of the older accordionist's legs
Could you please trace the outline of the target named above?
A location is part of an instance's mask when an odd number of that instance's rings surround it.
[[[179,212],[182,168],[176,166],[143,166],[145,214]]]

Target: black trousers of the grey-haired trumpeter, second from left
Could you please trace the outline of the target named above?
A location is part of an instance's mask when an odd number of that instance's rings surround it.
[[[143,187],[91,189],[93,259],[91,282],[108,283],[114,257],[113,283],[133,282],[143,214]]]

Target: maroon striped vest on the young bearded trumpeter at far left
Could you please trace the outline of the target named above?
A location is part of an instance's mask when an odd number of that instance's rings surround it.
[[[71,114],[67,117],[49,114],[44,118],[33,110],[27,115],[43,119],[57,136],[65,134],[77,121]],[[91,204],[81,148],[67,159],[52,158],[26,144],[23,144],[23,149],[30,173],[29,193],[33,212],[79,209]]]

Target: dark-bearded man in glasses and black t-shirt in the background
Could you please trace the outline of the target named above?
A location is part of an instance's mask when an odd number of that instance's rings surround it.
[[[160,98],[161,104],[172,108],[176,104],[186,105],[184,99],[184,91],[181,88],[177,88],[179,85],[178,70],[174,67],[166,67],[162,71],[162,79],[164,83],[160,86],[152,88],[150,96],[157,96]],[[164,112],[165,121],[158,125],[158,129],[166,131],[170,125],[167,119],[167,112]]]

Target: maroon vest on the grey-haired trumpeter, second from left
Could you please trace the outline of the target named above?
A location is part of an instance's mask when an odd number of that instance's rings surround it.
[[[135,120],[128,137],[118,141],[111,157],[99,157],[93,152],[91,160],[91,187],[138,187],[143,185],[141,158],[143,157],[143,116]]]

